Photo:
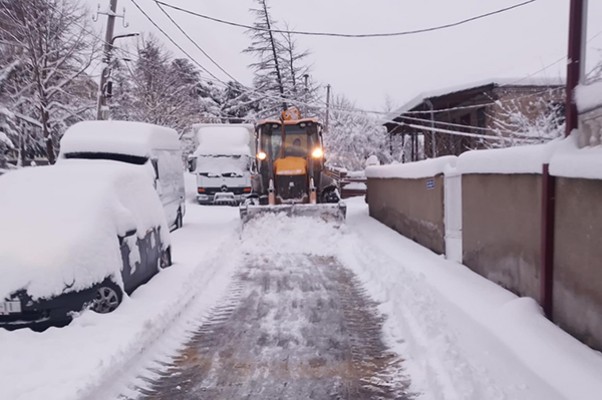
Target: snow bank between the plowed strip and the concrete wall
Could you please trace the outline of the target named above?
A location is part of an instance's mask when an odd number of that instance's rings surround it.
[[[361,200],[347,204],[353,235],[339,257],[381,303],[387,342],[404,357],[419,399],[599,398],[600,353],[547,320],[532,299],[397,234]]]

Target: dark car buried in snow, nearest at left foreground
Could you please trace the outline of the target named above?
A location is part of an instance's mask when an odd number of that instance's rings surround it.
[[[0,176],[0,327],[68,324],[117,308],[171,264],[152,179],[111,161],[65,162]]]

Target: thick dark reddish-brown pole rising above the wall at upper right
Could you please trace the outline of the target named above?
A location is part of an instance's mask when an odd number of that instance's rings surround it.
[[[579,126],[575,87],[584,78],[587,0],[571,0],[569,15],[569,51],[566,73],[566,130],[569,136]]]

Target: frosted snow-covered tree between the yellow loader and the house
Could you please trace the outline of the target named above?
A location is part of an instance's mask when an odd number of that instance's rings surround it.
[[[363,169],[371,155],[377,156],[382,163],[391,159],[387,133],[380,120],[356,110],[342,95],[334,96],[332,101],[324,142],[329,165],[350,171]]]

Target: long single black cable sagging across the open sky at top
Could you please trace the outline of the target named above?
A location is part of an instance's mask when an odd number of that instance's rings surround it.
[[[480,14],[474,17],[470,17],[470,18],[466,18],[457,22],[452,22],[449,24],[444,24],[444,25],[438,25],[438,26],[434,26],[434,27],[429,27],[429,28],[423,28],[423,29],[415,29],[415,30],[410,30],[410,31],[402,31],[402,32],[390,32],[390,33],[360,33],[360,34],[349,34],[349,33],[334,33],[334,32],[308,32],[308,31],[291,31],[291,30],[283,30],[283,29],[266,29],[266,28],[260,28],[260,27],[256,27],[256,26],[251,26],[251,25],[245,25],[245,24],[241,24],[241,23],[237,23],[237,22],[232,22],[232,21],[227,21],[224,19],[220,19],[220,18],[215,18],[215,17],[211,17],[205,14],[200,14],[194,11],[190,11],[178,6],[174,6],[171,4],[167,4],[164,3],[162,1],[159,0],[154,0],[155,3],[157,4],[162,4],[166,7],[169,8],[173,8],[174,10],[178,10],[190,15],[194,15],[196,17],[200,17],[200,18],[204,18],[210,21],[214,21],[214,22],[219,22],[221,24],[225,24],[225,25],[230,25],[230,26],[236,26],[239,28],[245,28],[245,29],[251,29],[251,30],[256,30],[256,31],[263,31],[263,32],[275,32],[275,33],[285,33],[285,34],[291,34],[291,35],[306,35],[306,36],[330,36],[330,37],[341,37],[341,38],[376,38],[376,37],[393,37],[393,36],[406,36],[406,35],[414,35],[414,34],[418,34],[418,33],[425,33],[425,32],[432,32],[432,31],[437,31],[437,30],[441,30],[441,29],[447,29],[447,28],[452,28],[458,25],[462,25],[462,24],[466,24],[468,22],[472,22],[472,21],[476,21],[478,19],[482,19],[482,18],[486,18],[486,17],[490,17],[492,15],[496,15],[496,14],[500,14],[506,11],[510,11],[512,9],[518,8],[518,7],[522,7],[525,6],[529,3],[534,3],[536,0],[527,0],[524,1],[522,3],[518,3],[515,4],[513,6],[509,6],[509,7],[505,7],[505,8],[501,8],[499,10],[495,10],[495,11],[491,11],[485,14]]]

